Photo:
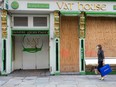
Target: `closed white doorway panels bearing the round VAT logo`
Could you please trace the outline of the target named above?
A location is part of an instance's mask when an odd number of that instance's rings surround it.
[[[49,37],[13,36],[13,70],[49,70]]]

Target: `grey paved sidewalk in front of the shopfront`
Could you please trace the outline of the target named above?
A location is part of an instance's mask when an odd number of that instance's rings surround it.
[[[1,76],[0,87],[116,87],[116,75],[59,75],[47,77]]]

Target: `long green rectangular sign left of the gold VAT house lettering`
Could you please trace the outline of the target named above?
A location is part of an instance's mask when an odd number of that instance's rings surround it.
[[[45,4],[45,3],[27,3],[27,8],[49,9],[49,4]]]

